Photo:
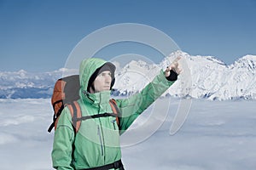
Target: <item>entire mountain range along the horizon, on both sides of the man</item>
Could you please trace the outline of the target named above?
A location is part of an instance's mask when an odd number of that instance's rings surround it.
[[[115,94],[134,94],[143,89],[161,69],[173,59],[182,56],[183,74],[166,95],[192,97],[195,99],[256,99],[256,55],[246,55],[232,65],[212,56],[192,56],[177,51],[163,59],[160,64],[148,64],[132,60],[120,68],[117,65]],[[44,73],[26,71],[0,72],[0,98],[50,98],[55,81],[62,75],[78,71],[60,69]]]

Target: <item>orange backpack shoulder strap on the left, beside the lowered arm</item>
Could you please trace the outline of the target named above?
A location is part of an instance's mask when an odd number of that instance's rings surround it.
[[[78,101],[73,101],[73,103],[67,105],[72,116],[73,128],[75,133],[79,132],[81,126],[81,121],[78,121],[82,117],[81,108]]]

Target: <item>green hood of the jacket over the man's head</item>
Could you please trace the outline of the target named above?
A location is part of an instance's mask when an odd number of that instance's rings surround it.
[[[94,72],[102,67],[102,65],[109,64],[113,66],[113,71],[115,71],[115,66],[112,63],[107,62],[104,59],[97,59],[97,58],[90,58],[90,59],[84,59],[79,68],[79,79],[80,79],[80,86],[82,92],[87,92],[88,83],[90,80],[90,77],[94,74]]]

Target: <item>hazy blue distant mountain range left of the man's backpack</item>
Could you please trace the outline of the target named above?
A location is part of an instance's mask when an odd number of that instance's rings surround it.
[[[50,98],[55,81],[72,74],[77,71],[64,68],[43,73],[0,71],[0,99]]]

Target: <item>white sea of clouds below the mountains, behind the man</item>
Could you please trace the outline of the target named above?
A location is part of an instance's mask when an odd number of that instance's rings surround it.
[[[157,105],[166,108],[168,98]],[[170,135],[179,99],[148,139],[122,148],[126,169],[214,170],[256,168],[256,101],[193,99],[183,127]],[[152,106],[153,107],[153,106]],[[148,121],[149,107],[131,129]],[[50,99],[0,99],[1,169],[49,170],[53,133]],[[124,141],[125,142],[125,141]]]

